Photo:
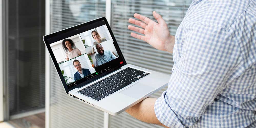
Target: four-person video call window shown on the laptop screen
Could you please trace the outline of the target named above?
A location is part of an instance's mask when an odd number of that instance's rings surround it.
[[[50,47],[68,88],[114,68],[105,63],[119,57],[106,25],[53,42]]]

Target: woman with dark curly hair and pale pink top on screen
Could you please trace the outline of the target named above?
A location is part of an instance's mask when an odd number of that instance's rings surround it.
[[[63,39],[62,40],[62,48],[64,49],[65,53],[65,59],[70,60],[75,57],[81,56],[81,51],[76,48],[73,40],[71,39]]]

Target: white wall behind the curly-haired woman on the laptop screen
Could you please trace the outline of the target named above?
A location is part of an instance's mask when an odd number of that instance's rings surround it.
[[[81,54],[85,54],[85,47],[83,45],[83,41],[80,39],[79,34],[71,36],[69,38],[66,39],[71,39],[74,41],[74,44],[76,45],[76,47],[81,51]],[[63,40],[63,39],[62,39]],[[50,44],[51,49],[53,51],[53,54],[57,60],[57,62],[61,62],[61,61],[66,61],[65,59],[65,51],[62,48],[62,40],[59,40],[57,42],[54,42],[52,44]]]

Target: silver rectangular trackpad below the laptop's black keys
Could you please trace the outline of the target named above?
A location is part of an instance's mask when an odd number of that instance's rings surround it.
[[[137,98],[143,97],[144,95],[150,93],[153,89],[154,88],[152,88],[150,86],[147,86],[143,83],[138,82],[138,83],[134,84],[133,86],[121,91],[120,93],[137,99]]]

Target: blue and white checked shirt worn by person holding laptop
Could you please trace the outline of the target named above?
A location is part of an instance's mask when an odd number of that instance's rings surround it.
[[[192,1],[177,29],[168,89],[155,103],[168,127],[256,127],[256,1]]]

